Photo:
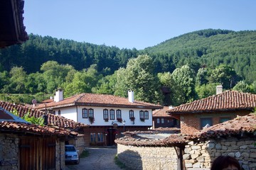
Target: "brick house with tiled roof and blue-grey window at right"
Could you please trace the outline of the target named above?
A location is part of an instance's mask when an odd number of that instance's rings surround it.
[[[181,133],[193,134],[205,126],[248,115],[256,107],[256,95],[225,91],[198,101],[171,108],[167,113],[181,122]]]

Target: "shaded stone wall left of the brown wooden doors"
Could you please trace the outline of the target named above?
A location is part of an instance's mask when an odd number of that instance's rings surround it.
[[[0,169],[18,170],[18,144],[17,135],[0,133]]]

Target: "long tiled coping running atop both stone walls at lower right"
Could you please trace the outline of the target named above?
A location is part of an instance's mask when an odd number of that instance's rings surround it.
[[[164,140],[152,140],[137,136],[138,132],[125,132],[125,137],[115,140],[118,144],[134,146],[176,146],[183,145],[191,140],[204,140],[209,137],[225,137],[230,135],[246,135],[256,133],[256,113],[239,116],[233,120],[203,129],[196,135],[171,134]],[[146,133],[145,131],[144,133]],[[141,132],[140,132],[141,133]],[[154,133],[149,131],[149,134]]]

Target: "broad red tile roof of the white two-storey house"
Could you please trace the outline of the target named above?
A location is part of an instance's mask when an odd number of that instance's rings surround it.
[[[69,98],[64,98],[63,101],[42,103],[36,106],[37,109],[47,108],[63,108],[67,106],[105,106],[119,108],[162,108],[162,106],[143,101],[128,101],[128,98],[122,98],[107,94],[78,94]]]

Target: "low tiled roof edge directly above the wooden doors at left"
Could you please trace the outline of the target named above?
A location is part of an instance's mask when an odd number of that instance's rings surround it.
[[[0,131],[4,132],[25,132],[34,135],[55,135],[55,136],[67,136],[78,135],[77,132],[70,131],[64,128],[51,128],[49,126],[40,126],[26,123],[15,122],[0,122]]]

